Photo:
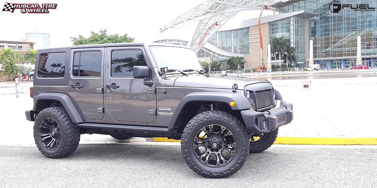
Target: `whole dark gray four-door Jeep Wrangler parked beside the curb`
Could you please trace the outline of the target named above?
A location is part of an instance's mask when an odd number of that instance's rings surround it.
[[[292,104],[267,80],[207,74],[192,49],[96,44],[38,51],[34,139],[49,158],[73,153],[81,134],[181,139],[189,167],[205,177],[236,173],[268,149]]]

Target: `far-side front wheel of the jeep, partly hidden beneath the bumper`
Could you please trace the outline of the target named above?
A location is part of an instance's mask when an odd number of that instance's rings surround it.
[[[278,129],[269,133],[250,136],[250,153],[261,153],[275,142]]]

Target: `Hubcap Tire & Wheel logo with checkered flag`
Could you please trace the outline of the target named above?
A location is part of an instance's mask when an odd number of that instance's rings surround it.
[[[56,9],[57,4],[55,3],[44,3],[44,4],[18,4],[18,3],[5,3],[3,11],[14,12],[14,9],[21,9],[21,13],[50,13],[50,9]]]

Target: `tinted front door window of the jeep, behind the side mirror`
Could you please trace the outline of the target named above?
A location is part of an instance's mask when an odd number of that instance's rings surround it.
[[[135,65],[147,66],[141,50],[115,50],[111,52],[111,76],[132,77]]]

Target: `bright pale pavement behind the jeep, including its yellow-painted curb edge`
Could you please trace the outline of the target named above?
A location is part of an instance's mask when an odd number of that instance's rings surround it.
[[[301,88],[302,81],[311,81],[309,90]],[[279,128],[276,143],[377,145],[377,116],[373,110],[377,106],[376,77],[271,80],[271,83],[285,101],[293,103],[294,111],[292,123]],[[29,94],[20,94],[20,98],[15,94],[2,95],[0,103],[0,145],[34,144],[33,122],[25,118],[25,111],[33,105]],[[81,135],[81,140],[114,141],[107,135]]]

